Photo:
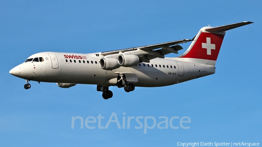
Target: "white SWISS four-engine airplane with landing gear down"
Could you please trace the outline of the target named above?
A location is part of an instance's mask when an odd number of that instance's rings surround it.
[[[244,21],[217,27],[203,27],[193,39],[183,39],[128,49],[99,53],[42,52],[31,55],[9,71],[13,76],[29,81],[56,83],[61,88],[76,84],[97,85],[104,99],[113,96],[110,86],[124,87],[125,92],[135,87],[161,87],[215,73],[215,63],[226,31],[252,24]],[[183,49],[181,43],[191,42],[182,55],[164,55]]]

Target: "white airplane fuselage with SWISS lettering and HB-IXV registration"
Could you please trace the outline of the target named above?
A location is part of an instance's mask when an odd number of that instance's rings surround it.
[[[54,54],[55,58],[52,57]],[[215,66],[183,62],[179,57],[164,59],[155,58],[150,60],[150,63],[141,62],[132,67],[119,67],[114,70],[104,70],[99,65],[99,60],[104,56],[101,54],[96,56],[96,54],[99,53],[36,53],[29,58],[42,57],[44,59],[43,62],[24,62],[13,68],[10,73],[19,78],[38,82],[106,86],[113,86],[116,84],[116,80],[113,79],[118,77],[118,73],[135,73],[138,82],[133,83],[138,87],[173,85],[215,73]],[[68,56],[64,55],[81,56],[82,59],[76,59],[75,57],[68,58]],[[70,60],[72,62],[70,62]]]

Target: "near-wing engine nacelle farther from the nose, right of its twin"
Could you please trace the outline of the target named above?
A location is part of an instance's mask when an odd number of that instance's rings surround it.
[[[131,67],[142,62],[137,55],[121,54],[118,56],[118,64],[123,67]]]

